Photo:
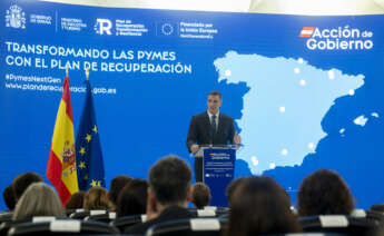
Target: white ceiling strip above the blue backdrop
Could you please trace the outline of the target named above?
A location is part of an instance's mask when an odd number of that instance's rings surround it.
[[[42,0],[116,8],[288,14],[382,14],[384,0]]]

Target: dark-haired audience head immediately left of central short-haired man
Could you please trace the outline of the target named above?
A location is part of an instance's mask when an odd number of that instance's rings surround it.
[[[122,188],[117,200],[117,216],[146,214],[148,183],[145,179],[132,179]]]

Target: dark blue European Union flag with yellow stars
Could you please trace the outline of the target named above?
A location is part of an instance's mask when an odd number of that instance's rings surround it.
[[[79,132],[76,139],[76,164],[79,190],[88,190],[93,186],[106,187],[91,87],[88,79],[85,83],[87,86],[87,97],[82,109]]]

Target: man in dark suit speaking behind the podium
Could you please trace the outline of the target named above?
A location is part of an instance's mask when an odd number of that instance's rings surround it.
[[[199,146],[213,145],[239,145],[240,137],[236,134],[234,119],[219,112],[223,104],[221,94],[211,91],[207,98],[207,111],[196,115],[191,118],[187,146],[190,153],[196,154]],[[195,158],[195,178],[196,181],[203,181],[203,157]]]

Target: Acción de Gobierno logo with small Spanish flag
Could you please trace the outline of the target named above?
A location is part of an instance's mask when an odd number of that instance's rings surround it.
[[[301,38],[308,38],[306,48],[309,50],[370,50],[373,48],[373,32],[349,26],[319,29],[303,27]]]

